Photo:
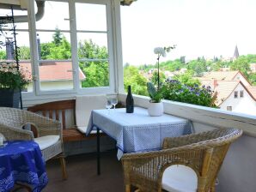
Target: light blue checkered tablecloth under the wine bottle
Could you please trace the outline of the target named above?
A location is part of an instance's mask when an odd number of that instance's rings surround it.
[[[140,107],[135,107],[134,113],[126,113],[125,109],[94,110],[87,135],[95,128],[117,141],[119,159],[123,153],[159,150],[165,137],[192,133],[192,123],[187,119],[167,114],[150,117],[148,111]]]

